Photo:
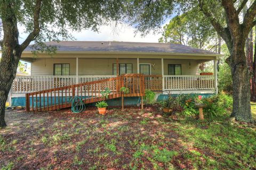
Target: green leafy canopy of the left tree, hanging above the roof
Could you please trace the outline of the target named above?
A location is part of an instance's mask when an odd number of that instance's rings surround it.
[[[0,18],[4,24],[6,17],[6,4],[9,1],[1,1]],[[17,18],[18,24],[25,28],[25,33],[30,33],[34,29],[35,1],[18,0],[10,1],[12,12]],[[92,29],[98,31],[100,25],[110,24],[121,19],[121,1],[42,1],[39,11],[40,32],[35,37],[34,50],[54,50],[52,46],[45,46],[45,41],[58,41],[61,39],[73,39],[69,30],[80,31],[81,29]],[[0,30],[2,22],[0,22]],[[55,29],[52,29],[54,27]],[[21,31],[21,30],[20,30]],[[5,32],[4,32],[5,33]]]

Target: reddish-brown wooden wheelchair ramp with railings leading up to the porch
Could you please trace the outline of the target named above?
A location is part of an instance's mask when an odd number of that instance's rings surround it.
[[[108,88],[108,99],[121,97],[120,88],[129,89],[124,97],[142,97],[145,95],[143,74],[122,74],[116,78],[90,81],[60,88],[35,91],[26,94],[26,111],[54,111],[71,107],[70,99],[80,97],[85,104],[103,100],[100,91]],[[105,99],[106,100],[106,99]]]

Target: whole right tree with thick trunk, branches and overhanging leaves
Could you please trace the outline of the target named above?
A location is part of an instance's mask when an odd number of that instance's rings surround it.
[[[177,1],[135,1],[128,4],[129,14],[134,18],[130,22],[136,24],[138,31],[147,33],[161,25],[170,17],[174,7],[181,11],[189,11],[191,7],[199,7],[204,16],[211,22],[218,35],[225,41],[230,56],[227,58],[233,80],[233,110],[230,116],[237,121],[252,121],[250,106],[250,77],[245,55],[245,41],[256,24],[256,1],[246,10],[244,17],[241,11],[249,0],[177,0]],[[134,7],[135,6],[135,7]],[[137,8],[139,10],[135,11]],[[169,11],[168,11],[169,10]],[[224,16],[224,17],[223,17]],[[225,22],[221,22],[221,19]],[[242,20],[241,20],[242,19]]]

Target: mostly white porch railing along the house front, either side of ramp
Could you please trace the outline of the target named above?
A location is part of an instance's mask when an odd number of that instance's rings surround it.
[[[78,75],[78,76],[26,76],[16,77],[12,84],[12,94],[70,86],[95,80],[114,78],[116,75]],[[215,93],[214,75],[144,75],[145,89],[155,92],[171,91],[180,93]]]

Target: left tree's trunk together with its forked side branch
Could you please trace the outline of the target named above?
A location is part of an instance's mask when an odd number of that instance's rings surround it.
[[[13,1],[3,1],[1,5],[0,12],[4,36],[3,40],[0,41],[2,47],[2,58],[0,61],[0,126],[4,127],[6,126],[4,121],[5,102],[17,72],[21,53],[38,36],[40,31],[39,13],[42,0],[37,0],[35,4],[34,29],[21,45],[19,45],[19,30]]]

